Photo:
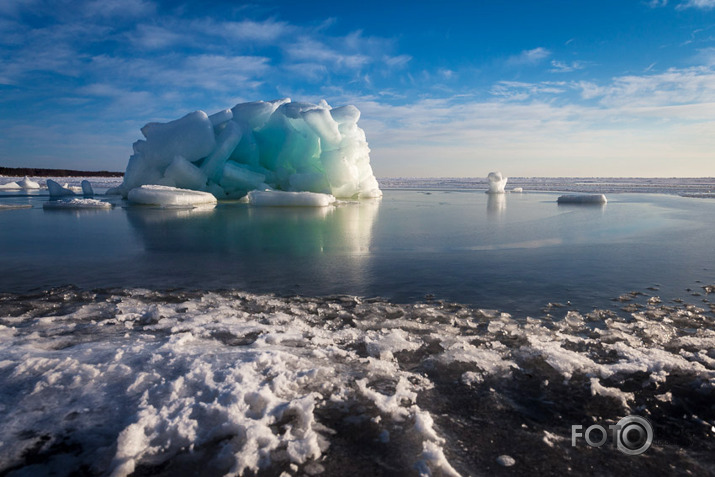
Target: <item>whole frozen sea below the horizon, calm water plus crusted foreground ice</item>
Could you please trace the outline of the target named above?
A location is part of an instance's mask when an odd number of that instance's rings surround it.
[[[0,192],[0,475],[715,474],[715,180],[381,186]],[[643,454],[573,445],[629,415]]]

